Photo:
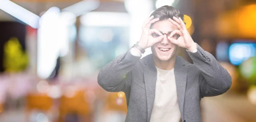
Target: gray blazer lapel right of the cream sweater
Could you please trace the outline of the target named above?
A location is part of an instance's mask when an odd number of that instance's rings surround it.
[[[179,56],[176,56],[175,68],[174,68],[177,98],[180,107],[181,118],[183,119],[183,107],[186,90],[186,78],[187,78],[187,67],[185,61]]]

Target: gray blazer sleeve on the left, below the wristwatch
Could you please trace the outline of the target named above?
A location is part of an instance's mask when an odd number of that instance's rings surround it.
[[[99,71],[99,86],[108,92],[127,91],[131,86],[131,70],[140,58],[141,56],[132,55],[130,50],[114,58]]]

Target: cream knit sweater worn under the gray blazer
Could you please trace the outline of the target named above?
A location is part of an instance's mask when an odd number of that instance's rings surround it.
[[[157,68],[155,100],[150,122],[181,122],[174,69]]]

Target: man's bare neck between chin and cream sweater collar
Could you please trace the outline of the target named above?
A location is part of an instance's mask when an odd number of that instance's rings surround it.
[[[176,56],[173,56],[168,61],[160,61],[159,58],[153,56],[154,64],[157,68],[163,69],[163,70],[171,70],[175,66],[175,60]]]

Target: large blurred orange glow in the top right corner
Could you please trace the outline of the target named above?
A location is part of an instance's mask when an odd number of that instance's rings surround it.
[[[216,32],[221,38],[256,38],[256,4],[241,6],[216,17]],[[235,28],[235,29],[234,29]]]

